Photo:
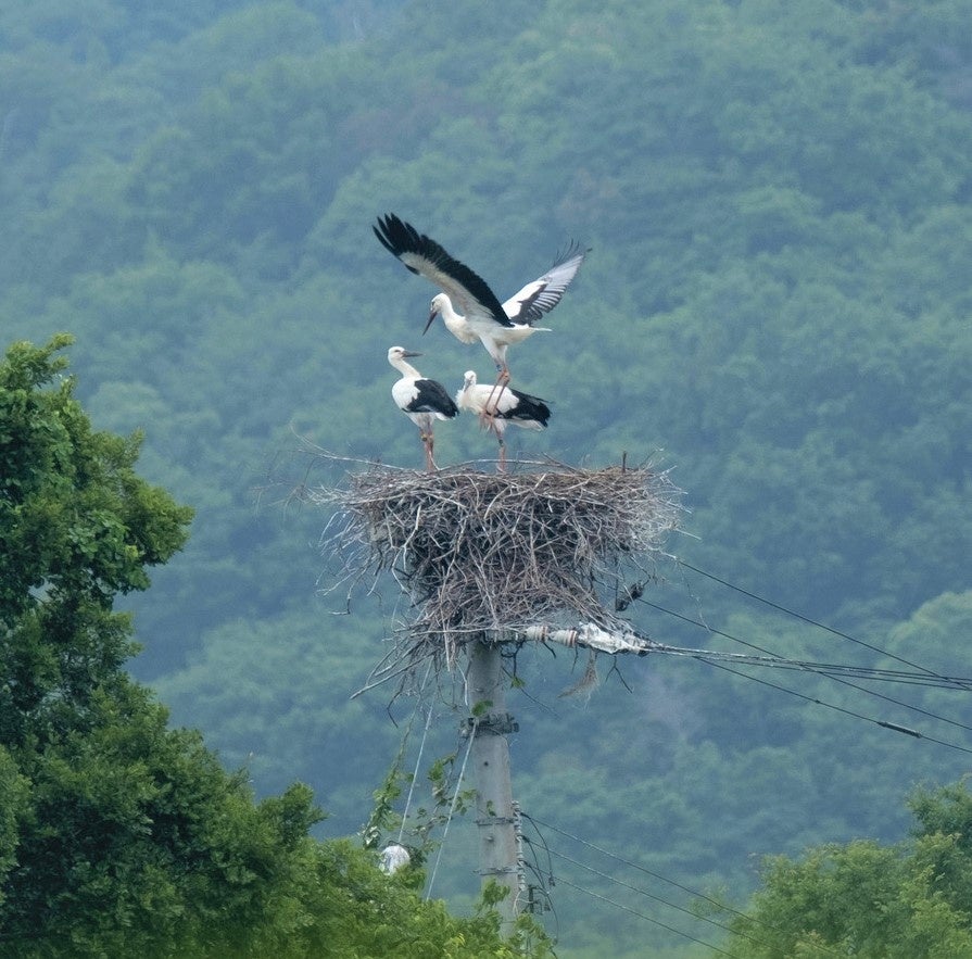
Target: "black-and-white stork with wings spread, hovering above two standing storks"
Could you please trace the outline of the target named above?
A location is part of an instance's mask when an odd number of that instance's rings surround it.
[[[482,277],[395,214],[379,217],[373,229],[381,244],[412,273],[430,279],[444,291],[432,298],[422,332],[427,332],[441,315],[449,330],[462,342],[480,340],[500,371],[497,383],[509,381],[507,348],[545,330],[533,324],[560,302],[588,253],[571,243],[543,276],[501,303]],[[458,305],[462,314],[455,311],[453,303]]]

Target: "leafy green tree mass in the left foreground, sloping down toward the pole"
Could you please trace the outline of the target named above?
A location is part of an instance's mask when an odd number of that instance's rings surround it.
[[[0,950],[34,956],[513,956],[348,843],[311,791],[255,804],[122,666],[116,596],[186,541],[191,510],[96,432],[58,351],[0,365]],[[518,936],[529,935],[525,925]],[[532,949],[532,947],[531,947]],[[545,955],[541,939],[533,955]]]

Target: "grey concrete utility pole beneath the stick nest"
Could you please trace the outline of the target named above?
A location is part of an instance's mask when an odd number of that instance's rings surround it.
[[[496,906],[501,932],[508,936],[523,906],[517,853],[516,818],[509,779],[509,743],[518,729],[506,711],[500,646],[480,638],[468,643],[467,689],[471,716],[465,722],[472,735],[469,758],[475,768],[476,825],[479,829],[479,872],[482,885],[490,881],[509,893]]]

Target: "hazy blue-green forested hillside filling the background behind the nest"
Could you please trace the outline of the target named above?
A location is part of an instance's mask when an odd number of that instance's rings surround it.
[[[350,615],[320,595],[328,517],[288,494],[342,471],[302,451],[421,466],[392,343],[450,389],[490,371],[441,325],[420,336],[434,290],[378,214],[501,299],[570,239],[593,248],[513,357],[551,428],[509,441],[671,470],[682,563],[629,610],[640,630],[972,677],[970,188],[960,0],[0,9],[4,344],[75,335],[96,426],[143,430],[139,471],[195,508],[131,601],[132,671],[258,795],[311,784],[321,835],[367,820],[416,701],[350,698],[408,610],[392,583]],[[471,418],[437,432],[442,464],[492,455]],[[898,840],[916,783],[969,770],[967,692],[657,656],[560,697],[583,666],[526,649],[510,693],[515,794],[568,883],[545,918],[565,959],[702,948],[657,922],[718,939],[621,860],[739,905],[760,856]],[[427,764],[457,748],[452,679]],[[437,879],[458,908],[470,832]]]

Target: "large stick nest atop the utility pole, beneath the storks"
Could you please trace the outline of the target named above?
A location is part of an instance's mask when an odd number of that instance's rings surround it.
[[[666,474],[646,467],[560,464],[515,474],[375,465],[348,489],[312,493],[338,506],[328,545],[361,571],[392,570],[415,606],[411,642],[432,642],[447,659],[474,634],[502,640],[541,622],[617,628],[614,596],[676,528],[678,497]]]

